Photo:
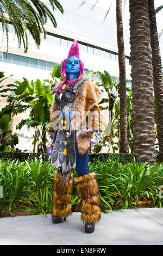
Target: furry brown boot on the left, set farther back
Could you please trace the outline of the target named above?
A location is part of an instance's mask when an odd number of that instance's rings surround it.
[[[68,177],[68,182],[65,182],[63,175],[55,172],[53,180],[53,208],[52,221],[60,223],[62,219],[71,214],[71,198],[73,188],[73,174]]]

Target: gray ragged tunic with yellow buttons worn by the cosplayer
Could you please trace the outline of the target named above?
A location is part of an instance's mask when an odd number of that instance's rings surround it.
[[[74,87],[68,87],[55,95],[55,100],[59,104],[60,115],[58,119],[58,131],[55,139],[52,159],[52,165],[61,169],[65,174],[72,168],[76,167],[76,131],[71,129],[73,103],[76,91],[80,84],[87,78],[79,80]],[[52,93],[56,92],[54,88]]]

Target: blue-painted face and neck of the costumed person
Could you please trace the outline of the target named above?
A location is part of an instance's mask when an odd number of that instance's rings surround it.
[[[69,81],[78,77],[80,70],[80,62],[76,56],[71,56],[67,59],[66,71],[69,77]]]

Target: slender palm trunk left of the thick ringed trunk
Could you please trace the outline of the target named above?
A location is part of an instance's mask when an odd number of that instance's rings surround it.
[[[122,0],[116,0],[118,63],[120,72],[120,153],[128,152],[126,66],[123,40]]]

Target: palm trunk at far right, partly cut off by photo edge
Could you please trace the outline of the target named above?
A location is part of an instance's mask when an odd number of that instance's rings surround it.
[[[158,131],[159,162],[163,162],[163,78],[160,57],[158,31],[156,27],[154,1],[149,0],[149,21],[151,31],[152,65],[153,65],[153,86],[156,110],[156,125]]]

